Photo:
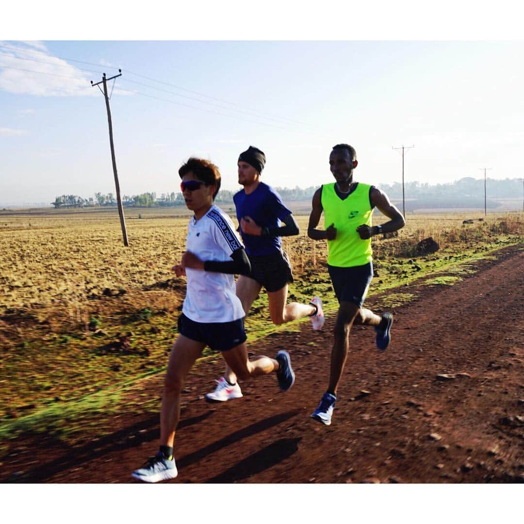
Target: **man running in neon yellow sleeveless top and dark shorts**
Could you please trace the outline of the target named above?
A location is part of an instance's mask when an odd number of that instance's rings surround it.
[[[391,313],[379,316],[362,307],[373,278],[371,237],[396,231],[406,223],[385,193],[373,185],[353,180],[357,159],[352,146],[334,146],[329,163],[335,182],[315,191],[308,226],[310,238],[328,241],[328,269],[340,304],[334,327],[328,390],[322,396],[319,407],[311,414],[313,419],[326,425],[331,424],[336,390],[349,350],[351,326],[372,325],[377,332],[378,348],[385,350],[389,345],[389,331],[393,323]],[[390,220],[373,226],[375,208]],[[316,228],[322,213],[324,223],[330,224],[325,230]]]

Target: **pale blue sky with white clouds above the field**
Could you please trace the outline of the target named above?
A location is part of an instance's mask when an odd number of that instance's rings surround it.
[[[401,181],[393,148],[402,145],[414,146],[407,182],[482,178],[485,167],[495,179],[524,172],[521,40],[388,31],[378,40],[369,31],[284,41],[277,31],[249,41],[243,30],[236,40],[211,31],[210,40],[205,28],[161,41],[125,31],[96,40],[83,29],[75,40],[53,31],[0,40],[0,204],[114,193],[104,97],[91,80],[118,69],[108,89],[122,195],[177,192],[190,156],[216,163],[222,187],[239,189],[236,162],[249,145],[265,152],[263,181],[275,187],[330,182],[339,143],[357,151],[355,178],[379,187]]]

